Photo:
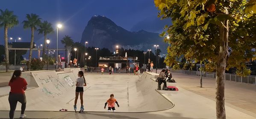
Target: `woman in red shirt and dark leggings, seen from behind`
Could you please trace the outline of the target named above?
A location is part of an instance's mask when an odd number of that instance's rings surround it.
[[[17,106],[17,102],[21,103],[21,116],[20,118],[26,117],[24,114],[26,109],[26,80],[21,78],[21,70],[15,70],[12,74],[12,78],[9,81],[9,86],[11,87],[11,91],[9,93],[9,104],[10,104],[10,112],[9,117],[13,119],[14,112]]]

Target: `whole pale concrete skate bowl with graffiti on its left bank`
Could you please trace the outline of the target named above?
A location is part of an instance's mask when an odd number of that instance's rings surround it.
[[[31,73],[38,87],[26,90],[27,111],[59,111],[62,108],[74,111],[75,80],[77,71],[44,71]],[[157,83],[152,74],[136,75],[85,75],[83,102],[85,111],[106,112],[104,103],[113,93],[120,107],[117,112],[150,112],[167,110],[174,106],[155,89]],[[0,97],[0,110],[9,110],[8,96]],[[2,106],[3,105],[3,106]],[[16,110],[20,110],[18,103]],[[79,110],[80,99],[77,101]]]

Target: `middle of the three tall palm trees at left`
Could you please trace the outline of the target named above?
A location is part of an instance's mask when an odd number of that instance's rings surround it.
[[[29,51],[29,63],[27,70],[30,71],[31,67],[31,58],[32,58],[32,48],[34,43],[34,31],[37,29],[36,27],[41,24],[41,18],[39,18],[38,15],[31,13],[26,14],[27,20],[24,20],[22,23],[24,23],[24,29],[31,28],[31,43],[30,43],[30,51]]]

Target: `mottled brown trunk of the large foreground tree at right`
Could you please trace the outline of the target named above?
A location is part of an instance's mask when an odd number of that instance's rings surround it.
[[[228,14],[227,8],[225,9],[225,14]],[[224,25],[220,26],[220,51],[216,64],[216,116],[217,119],[226,119],[224,79],[228,58],[229,20],[221,22]]]

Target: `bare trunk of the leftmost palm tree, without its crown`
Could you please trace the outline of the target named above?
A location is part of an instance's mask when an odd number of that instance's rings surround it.
[[[7,33],[8,33],[8,27],[7,25],[5,24],[4,25],[4,44],[5,44],[5,62],[6,62],[6,72],[9,72],[9,48],[8,48],[8,36],[7,36]]]

